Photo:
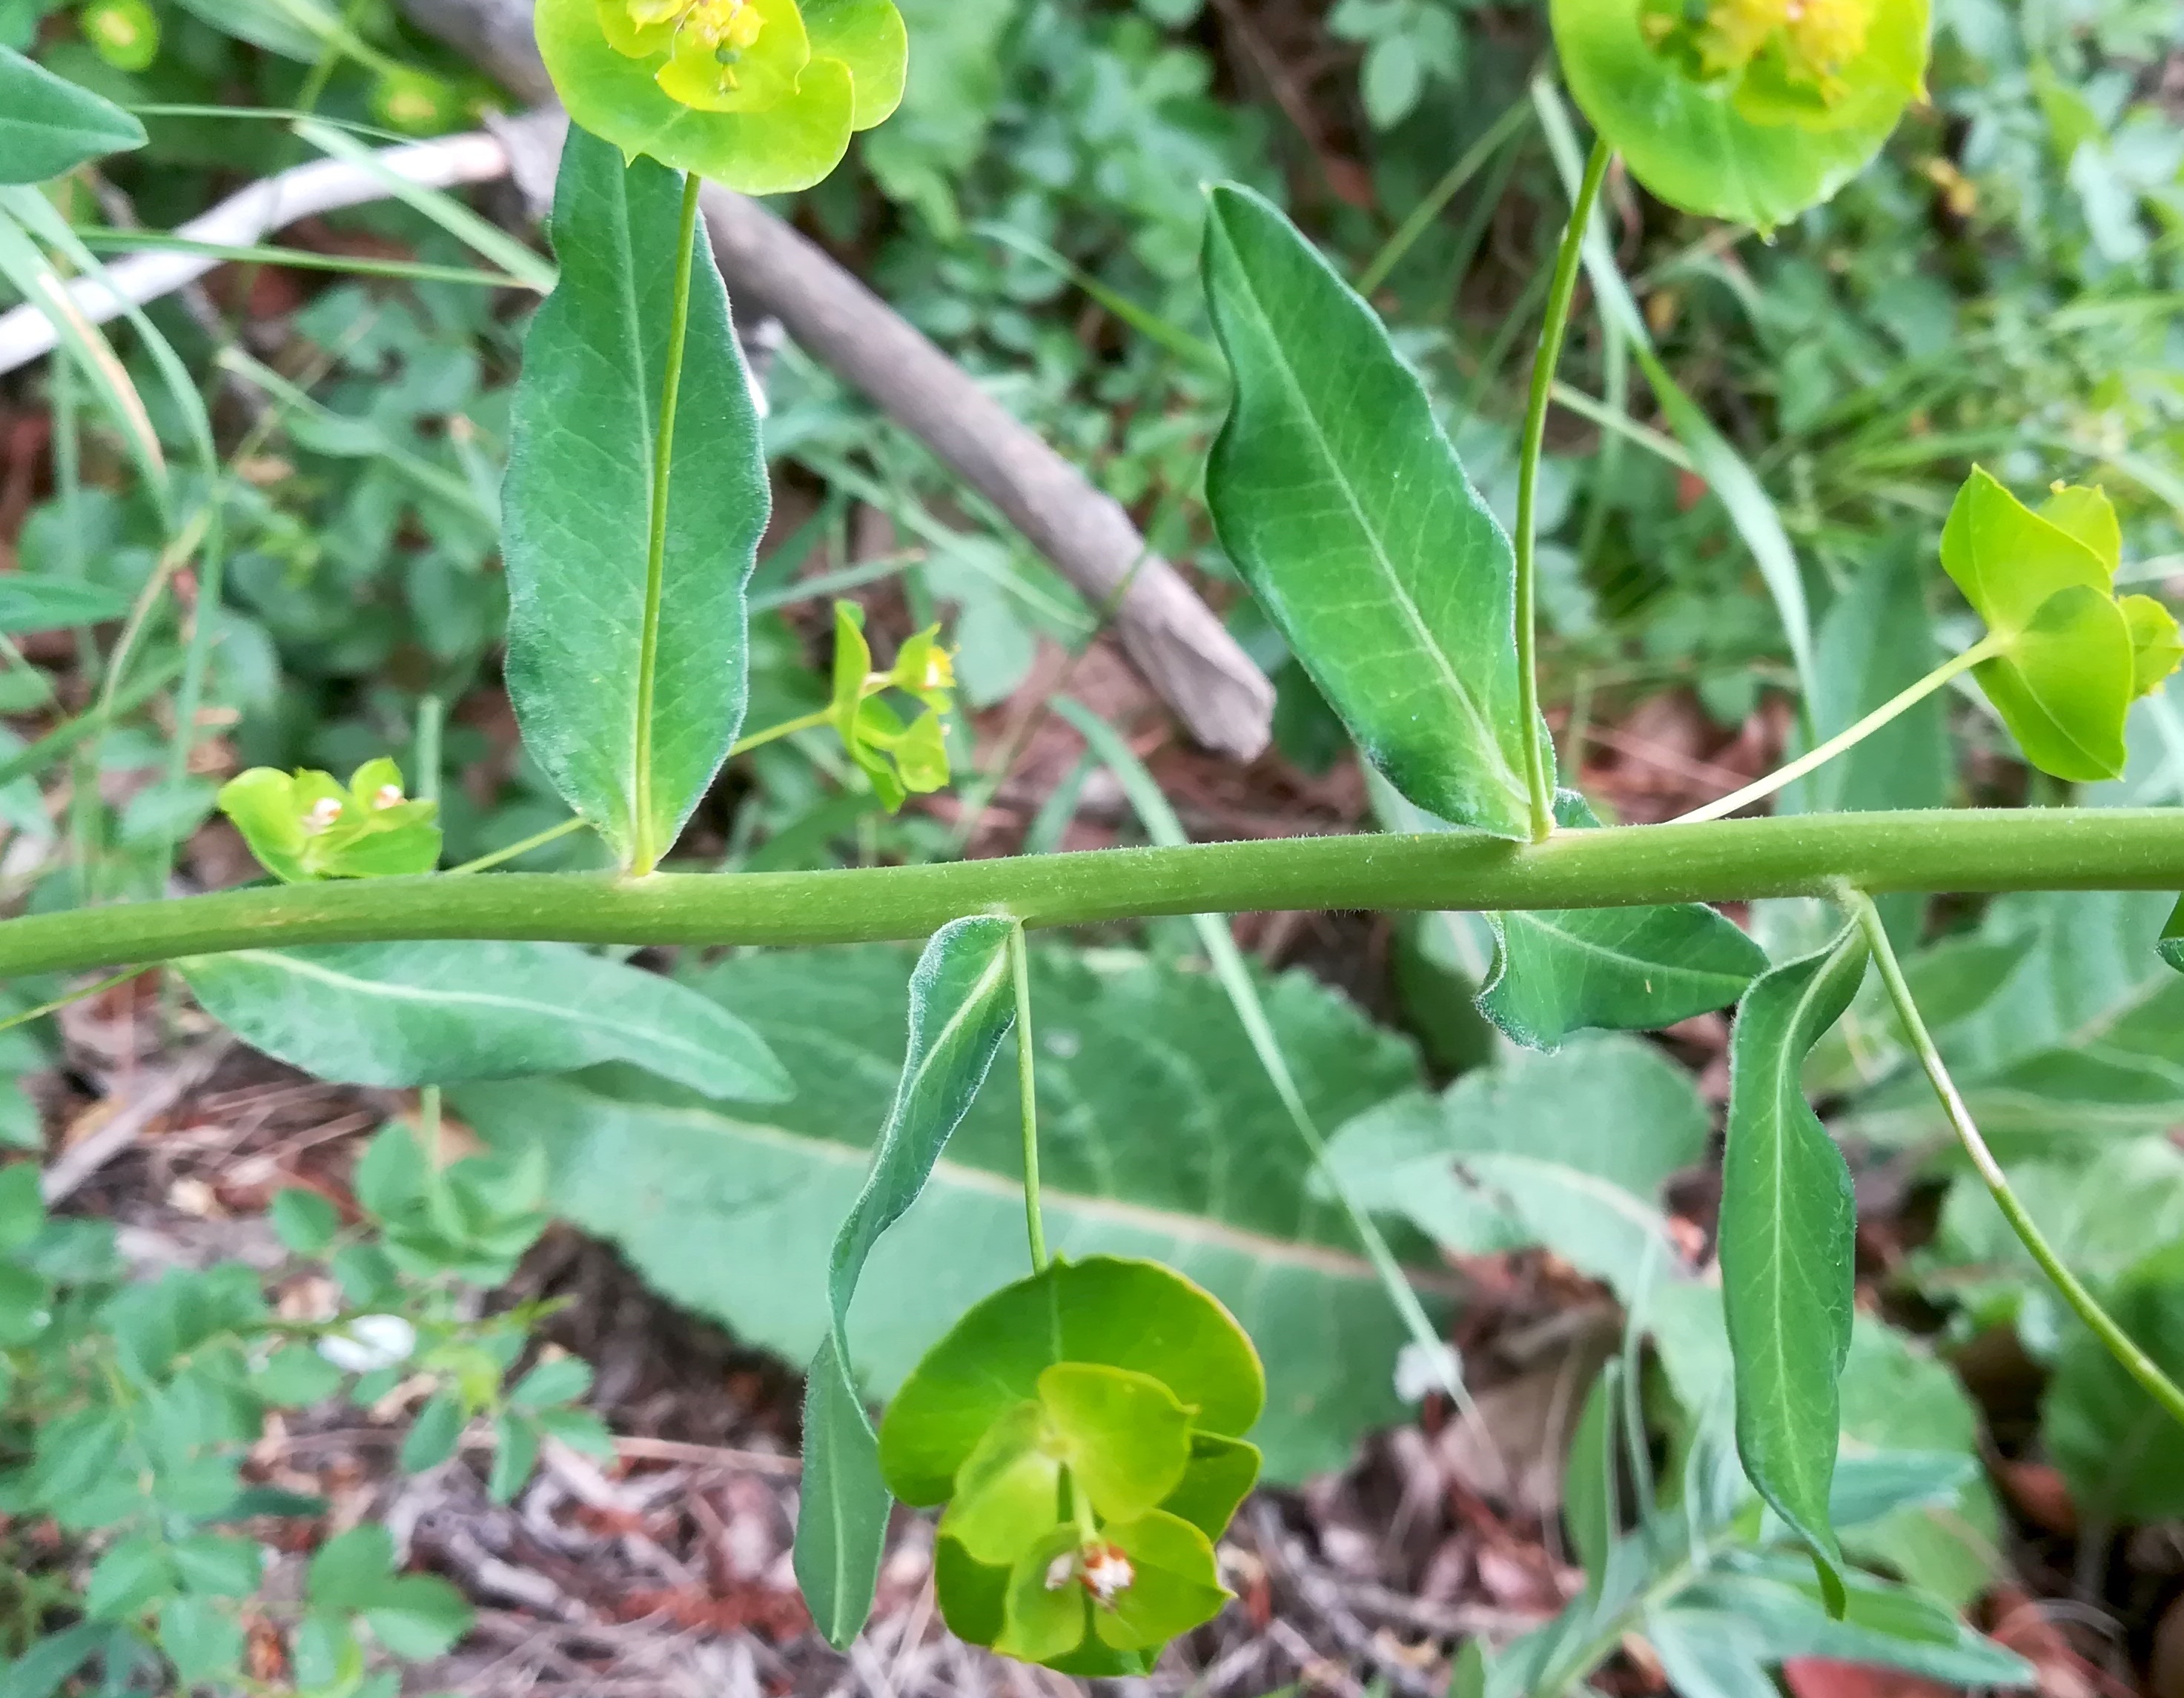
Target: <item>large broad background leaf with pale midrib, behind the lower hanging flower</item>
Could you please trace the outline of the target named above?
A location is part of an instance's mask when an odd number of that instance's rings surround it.
[[[539,1141],[553,1200],[670,1299],[808,1360],[828,1331],[823,1246],[858,1194],[902,1065],[898,947],[738,956],[695,980],[743,1013],[797,1093],[727,1115],[638,1076],[463,1087],[498,1146]],[[1048,1244],[1138,1255],[1221,1299],[1267,1362],[1254,1438],[1278,1480],[1339,1467],[1400,1416],[1404,1340],[1221,986],[1125,949],[1033,947]],[[1291,973],[1267,1017],[1313,1117],[1337,1126],[1417,1085],[1406,1045]],[[963,1310],[1024,1272],[1022,1128],[985,1091],[917,1209],[858,1286],[858,1377],[893,1392]],[[1404,1246],[1409,1248],[1409,1246]]]

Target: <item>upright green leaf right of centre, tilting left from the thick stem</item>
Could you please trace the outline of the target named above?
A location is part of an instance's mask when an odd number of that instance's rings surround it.
[[[1417,373],[1280,212],[1223,186],[1206,295],[1236,397],[1206,469],[1221,546],[1420,808],[1531,834],[1516,557]],[[1553,768],[1553,757],[1548,757]]]

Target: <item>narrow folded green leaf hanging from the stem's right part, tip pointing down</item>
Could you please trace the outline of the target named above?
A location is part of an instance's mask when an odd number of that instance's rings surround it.
[[[1811,1545],[1841,1604],[1843,1556],[1828,1526],[1850,1353],[1850,1168],[1804,1100],[1811,1048],[1865,978],[1856,930],[1776,967],[1745,995],[1730,1039],[1721,1172],[1721,1290],[1736,1358],[1736,1454],[1776,1512]]]

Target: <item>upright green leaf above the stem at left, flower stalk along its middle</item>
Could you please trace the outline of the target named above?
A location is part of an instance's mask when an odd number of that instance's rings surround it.
[[[505,485],[509,694],[524,744],[625,864],[640,838],[657,851],[675,842],[743,725],[743,587],[769,504],[727,292],[701,234],[653,712],[640,736],[653,441],[679,201],[673,172],[651,159],[625,166],[609,144],[570,131],[553,216],[561,282],[524,345]]]

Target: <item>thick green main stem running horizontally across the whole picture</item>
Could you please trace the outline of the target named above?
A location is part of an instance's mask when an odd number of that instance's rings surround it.
[[[574,829],[574,827],[568,827]],[[2173,808],[2007,808],[1557,832],[1315,836],[819,873],[328,880],[0,921],[0,978],[387,938],[876,943],[963,914],[1099,925],[1271,910],[1636,908],[1861,890],[2177,890]]]

